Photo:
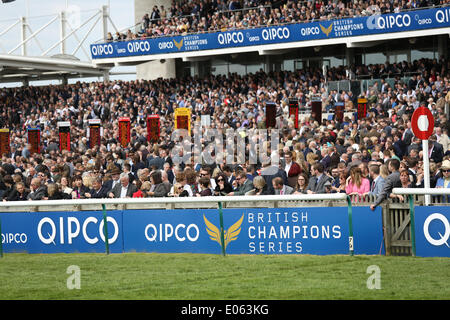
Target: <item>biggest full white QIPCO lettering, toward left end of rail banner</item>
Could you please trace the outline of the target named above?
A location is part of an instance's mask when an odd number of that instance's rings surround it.
[[[111,231],[108,232],[109,236],[111,234],[113,234],[113,236],[108,239],[108,243],[113,244],[119,236],[119,226],[118,226],[116,220],[112,217],[107,217],[106,221],[112,223],[112,225],[114,226],[114,233],[112,233]],[[96,244],[98,242],[98,237],[91,238],[87,234],[87,226],[89,223],[97,224],[98,220],[94,217],[88,217],[86,220],[84,220],[83,224],[80,225],[80,221],[76,217],[68,217],[66,223],[64,223],[64,218],[60,217],[59,218],[59,243],[64,244],[64,240],[65,240],[64,235],[65,235],[65,229],[66,229],[68,244],[72,244],[72,240],[76,239],[80,235],[80,231],[82,233],[83,239],[88,244]],[[42,228],[45,224],[48,224],[51,229],[50,232],[47,233],[47,235],[42,234]],[[102,219],[99,223],[98,234],[100,235],[100,238],[102,239],[102,241],[105,242],[105,236],[103,234],[103,226],[104,226],[104,222]],[[57,226],[52,219],[50,219],[48,217],[42,218],[38,223],[37,233],[38,233],[39,240],[41,240],[42,243],[44,243],[44,244],[53,243],[56,245],[55,238],[56,238],[56,234],[57,234]]]

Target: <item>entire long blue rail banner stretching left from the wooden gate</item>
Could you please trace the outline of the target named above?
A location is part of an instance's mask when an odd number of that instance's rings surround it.
[[[218,210],[107,213],[110,252],[221,254]],[[355,254],[384,254],[381,209],[353,208]],[[347,207],[224,209],[227,254],[348,254]],[[101,211],[1,213],[5,252],[105,252]]]

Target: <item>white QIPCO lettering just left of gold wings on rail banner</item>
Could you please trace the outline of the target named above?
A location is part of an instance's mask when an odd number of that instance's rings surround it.
[[[189,241],[195,242],[200,235],[200,230],[198,226],[193,223],[188,225],[187,228],[184,224],[178,224],[174,228],[173,225],[169,223],[159,224],[158,227],[153,223],[150,223],[145,227],[144,234],[145,238],[150,242],[167,242],[174,235],[177,241],[183,242],[187,238]]]

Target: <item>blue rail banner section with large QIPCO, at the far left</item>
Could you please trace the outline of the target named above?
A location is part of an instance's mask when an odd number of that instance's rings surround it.
[[[5,252],[105,252],[101,211],[0,213]],[[110,252],[123,252],[122,212],[107,212]]]

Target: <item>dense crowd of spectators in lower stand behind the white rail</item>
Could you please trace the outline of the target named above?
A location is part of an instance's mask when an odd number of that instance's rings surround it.
[[[359,96],[328,91],[315,70],[258,72],[239,76],[109,81],[16,87],[0,90],[0,128],[10,129],[11,153],[1,156],[0,199],[84,199],[122,197],[193,197],[292,193],[372,195],[374,206],[393,196],[395,186],[423,186],[422,154],[430,158],[431,187],[450,187],[450,67],[447,60],[413,63],[420,76],[393,87],[379,81]],[[390,68],[390,66],[388,65]],[[313,96],[333,114],[343,101],[342,122],[321,124],[307,112]],[[356,99],[367,97],[367,116],[357,119]],[[299,128],[288,102],[297,98]],[[251,135],[267,129],[265,106],[277,106],[279,164],[270,157],[245,162],[175,163],[174,110],[192,110],[192,123],[210,115],[211,128],[232,128]],[[412,133],[411,115],[428,107],[435,118],[430,149]],[[158,114],[161,135],[147,142],[146,116]],[[131,119],[131,142],[118,142],[118,119]],[[89,146],[88,120],[101,119],[100,146]],[[59,150],[58,121],[71,121],[71,151]],[[41,127],[41,151],[31,153],[27,127]],[[196,126],[192,126],[195,128]],[[205,131],[203,127],[203,137]],[[203,145],[209,141],[203,139]],[[246,142],[248,145],[248,141]],[[406,179],[406,174],[408,179]]]

